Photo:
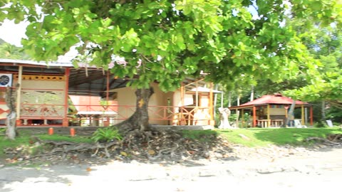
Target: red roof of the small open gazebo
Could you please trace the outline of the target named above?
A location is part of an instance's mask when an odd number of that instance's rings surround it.
[[[253,100],[251,102],[246,102],[246,103],[239,105],[239,106],[263,105],[263,104],[291,105],[292,102],[294,102],[294,100],[292,100],[289,97],[284,97],[281,94],[275,94],[275,95],[264,95],[257,100]],[[309,104],[309,103],[296,100],[296,105],[302,105],[302,104]]]

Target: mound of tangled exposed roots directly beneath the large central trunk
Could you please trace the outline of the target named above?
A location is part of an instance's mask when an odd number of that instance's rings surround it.
[[[149,132],[133,131],[123,139],[123,144],[130,149],[132,154],[139,154],[139,158],[150,161],[184,161],[186,159],[209,158],[209,151],[219,146],[219,138],[207,136],[206,142],[196,139],[188,139],[182,136],[180,130],[157,130]],[[212,137],[212,138],[209,138]],[[222,149],[222,153],[230,151],[228,147]]]

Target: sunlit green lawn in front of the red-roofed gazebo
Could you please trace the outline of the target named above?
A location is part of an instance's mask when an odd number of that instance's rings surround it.
[[[306,145],[304,139],[308,137],[326,137],[326,134],[342,134],[341,128],[249,128],[217,130],[219,134],[234,144],[244,146],[267,146],[269,144]],[[240,135],[248,137],[243,139]]]

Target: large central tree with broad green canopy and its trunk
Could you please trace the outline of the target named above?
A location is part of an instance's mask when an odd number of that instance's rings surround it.
[[[286,18],[338,22],[337,1],[0,1],[0,21],[30,22],[22,43],[36,60],[56,60],[75,46],[76,63],[105,69],[112,63],[112,73],[121,78],[138,75],[131,84],[138,88],[133,117],[144,118],[131,118],[129,124],[144,130],[150,82],[172,90],[186,75],[197,76],[201,70],[207,80],[225,84],[314,70]],[[312,22],[305,20],[306,26]]]

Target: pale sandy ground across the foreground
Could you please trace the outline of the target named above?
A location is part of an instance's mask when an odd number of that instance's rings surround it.
[[[0,168],[0,191],[341,191],[342,149],[182,164]]]

